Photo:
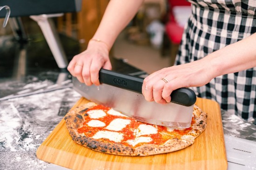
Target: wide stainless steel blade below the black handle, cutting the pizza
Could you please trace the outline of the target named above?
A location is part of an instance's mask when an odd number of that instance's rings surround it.
[[[107,84],[86,86],[73,77],[74,89],[90,101],[112,107],[115,110],[149,124],[188,128],[191,125],[193,105],[148,102],[142,94]]]

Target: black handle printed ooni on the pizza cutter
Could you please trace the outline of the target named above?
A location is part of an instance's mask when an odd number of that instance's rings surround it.
[[[101,83],[124,88],[142,94],[141,88],[144,78],[101,69],[99,73]],[[183,106],[195,104],[195,92],[189,88],[178,88],[171,93],[171,102]]]

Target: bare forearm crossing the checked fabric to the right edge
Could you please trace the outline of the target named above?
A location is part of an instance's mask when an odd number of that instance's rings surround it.
[[[214,77],[256,67],[256,34],[203,58]]]

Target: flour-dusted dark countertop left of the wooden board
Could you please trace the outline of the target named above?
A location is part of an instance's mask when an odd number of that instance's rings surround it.
[[[64,88],[1,101],[0,169],[46,169],[36,150],[80,97]]]

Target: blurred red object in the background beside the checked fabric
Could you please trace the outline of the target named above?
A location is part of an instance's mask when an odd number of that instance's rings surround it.
[[[183,33],[183,26],[175,20],[173,9],[175,6],[191,6],[186,0],[168,0],[168,21],[165,25],[166,35],[173,44],[180,44]]]

